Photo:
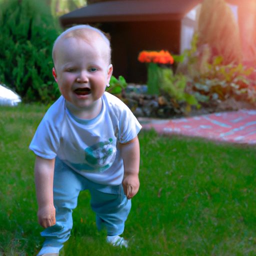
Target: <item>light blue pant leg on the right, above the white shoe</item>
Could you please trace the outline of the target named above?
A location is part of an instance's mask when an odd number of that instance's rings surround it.
[[[131,201],[124,194],[122,185],[109,186],[90,182],[91,209],[96,213],[96,225],[106,228],[108,235],[119,235],[130,211]]]

